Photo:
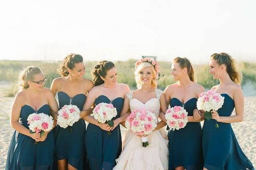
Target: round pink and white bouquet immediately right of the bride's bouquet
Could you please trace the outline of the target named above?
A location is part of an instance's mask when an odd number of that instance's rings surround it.
[[[174,106],[167,109],[165,119],[171,130],[179,130],[187,125],[187,111],[181,106]]]

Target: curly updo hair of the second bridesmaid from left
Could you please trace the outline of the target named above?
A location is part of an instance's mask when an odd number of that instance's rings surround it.
[[[61,76],[67,77],[69,75],[69,69],[73,69],[76,63],[83,62],[82,55],[71,53],[64,58],[60,67],[57,69],[57,73]]]

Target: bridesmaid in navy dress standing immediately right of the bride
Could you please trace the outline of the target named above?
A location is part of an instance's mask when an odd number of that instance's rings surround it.
[[[204,87],[194,82],[194,70],[187,58],[176,57],[171,65],[171,75],[177,82],[165,88],[167,104],[182,106],[188,112],[188,123],[179,130],[169,130],[169,170],[202,170],[202,127],[195,120],[196,102]]]

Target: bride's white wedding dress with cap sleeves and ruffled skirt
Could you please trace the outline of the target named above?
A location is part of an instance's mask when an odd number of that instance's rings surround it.
[[[130,100],[130,109],[151,109],[155,116],[159,116],[160,95],[163,91],[155,89],[156,98],[145,104],[138,99],[132,99],[133,91],[127,93]],[[147,136],[149,145],[142,147],[141,138],[131,130],[125,132],[123,151],[116,159],[117,165],[113,170],[167,170],[168,169],[168,140],[163,128],[153,131]]]

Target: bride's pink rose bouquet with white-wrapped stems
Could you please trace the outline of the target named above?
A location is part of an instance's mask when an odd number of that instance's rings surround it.
[[[135,109],[127,117],[125,127],[135,134],[148,135],[157,127],[157,118],[147,109]],[[142,137],[141,140],[144,148],[149,145],[147,137]]]

